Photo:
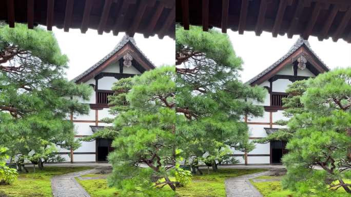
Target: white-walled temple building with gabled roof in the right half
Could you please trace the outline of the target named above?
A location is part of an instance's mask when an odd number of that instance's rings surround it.
[[[268,90],[264,103],[262,117],[245,117],[250,132],[250,140],[258,140],[282,128],[276,125],[278,120],[287,120],[283,116],[282,98],[287,96],[288,85],[319,73],[329,71],[317,54],[311,49],[308,41],[299,38],[293,47],[277,62],[266,68],[247,83],[251,86],[261,86]],[[248,164],[279,164],[286,153],[286,142],[272,141],[266,144],[256,144],[256,148],[247,154]],[[234,151],[240,163],[244,163],[244,152]]]

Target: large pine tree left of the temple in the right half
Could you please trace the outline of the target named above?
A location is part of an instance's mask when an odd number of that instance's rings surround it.
[[[248,145],[243,116],[262,115],[263,108],[255,104],[263,102],[266,91],[239,80],[243,62],[228,35],[200,27],[177,27],[175,35],[176,111],[183,114],[177,143],[185,159],[198,161],[205,153],[216,157],[216,170],[221,160],[215,155],[228,155],[221,154],[228,146]]]

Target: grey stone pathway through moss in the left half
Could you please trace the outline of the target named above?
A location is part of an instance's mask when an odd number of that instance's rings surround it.
[[[72,172],[51,179],[53,197],[90,197],[85,189],[75,180],[78,176],[99,172],[94,168],[79,172]]]

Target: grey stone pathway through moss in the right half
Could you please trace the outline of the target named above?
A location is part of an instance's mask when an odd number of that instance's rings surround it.
[[[274,172],[264,171],[225,180],[227,197],[262,197],[262,194],[250,183],[249,179],[271,174]]]

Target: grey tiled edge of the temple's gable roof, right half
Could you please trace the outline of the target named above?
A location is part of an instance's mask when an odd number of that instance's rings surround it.
[[[298,50],[301,46],[306,46],[306,48],[313,53],[317,59],[319,60],[319,62],[322,63],[322,65],[329,70],[329,68],[323,63],[323,61],[321,60],[321,58],[318,57],[318,55],[311,49],[309,42],[307,40],[303,40],[302,37],[299,37],[299,39],[295,42],[295,44],[289,49],[289,51],[282,56],[277,62],[275,62],[274,64],[270,65],[267,69],[265,69],[264,71],[262,71],[260,74],[256,75],[255,77],[251,78],[251,80],[249,80],[248,82],[246,82],[247,84],[251,84],[253,82],[255,82],[256,80],[258,80],[259,78],[261,78],[263,75],[267,74],[269,71],[273,70],[274,68],[276,68],[280,63],[282,63],[284,60],[286,60],[286,58],[288,58],[291,54],[293,54],[296,50]]]

